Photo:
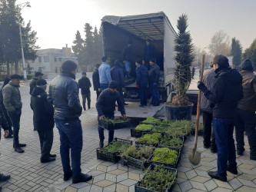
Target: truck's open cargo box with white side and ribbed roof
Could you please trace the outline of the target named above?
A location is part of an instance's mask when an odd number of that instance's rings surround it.
[[[171,92],[171,80],[175,68],[175,36],[177,35],[164,12],[145,15],[113,16],[101,19],[103,35],[103,53],[112,60],[121,60],[121,51],[132,41],[133,56],[131,74],[135,76],[135,61],[144,56],[145,40],[150,39],[155,45],[156,61],[161,75],[158,90],[161,100],[166,101]],[[138,98],[135,82],[125,87],[125,98]]]

